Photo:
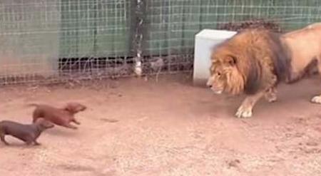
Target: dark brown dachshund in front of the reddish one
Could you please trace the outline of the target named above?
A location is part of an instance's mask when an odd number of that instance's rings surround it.
[[[44,130],[53,127],[54,124],[44,120],[44,118],[39,118],[35,123],[29,125],[3,120],[0,122],[0,139],[4,144],[9,145],[5,140],[5,135],[11,135],[24,141],[26,145],[31,145],[31,143],[40,145],[36,141],[37,138]]]

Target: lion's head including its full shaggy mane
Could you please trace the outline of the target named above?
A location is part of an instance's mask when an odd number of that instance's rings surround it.
[[[275,84],[285,59],[278,36],[266,30],[245,30],[213,49],[207,85],[215,93],[253,94]],[[280,57],[279,57],[280,56]],[[275,69],[277,68],[277,69]],[[280,71],[279,71],[280,70]]]

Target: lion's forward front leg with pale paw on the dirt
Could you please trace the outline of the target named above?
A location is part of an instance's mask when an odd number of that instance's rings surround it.
[[[253,106],[255,103],[260,100],[260,98],[265,95],[265,91],[260,91],[255,93],[254,95],[249,95],[248,97],[243,100],[243,103],[238,108],[238,111],[235,113],[236,117],[238,118],[250,118],[253,114]]]

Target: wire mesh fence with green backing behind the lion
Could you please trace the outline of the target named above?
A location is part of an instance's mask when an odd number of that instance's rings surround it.
[[[0,84],[191,71],[194,36],[320,21],[319,0],[0,0]]]

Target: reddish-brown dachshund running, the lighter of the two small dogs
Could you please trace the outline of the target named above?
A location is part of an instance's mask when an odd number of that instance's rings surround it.
[[[63,108],[54,108],[51,105],[36,103],[31,103],[29,105],[36,106],[33,113],[33,122],[36,122],[38,118],[44,118],[51,123],[73,130],[76,130],[77,127],[71,125],[71,122],[76,123],[77,125],[81,124],[74,118],[74,115],[80,111],[86,110],[86,106],[81,105],[80,103],[67,103]]]

